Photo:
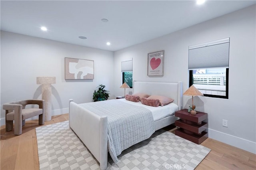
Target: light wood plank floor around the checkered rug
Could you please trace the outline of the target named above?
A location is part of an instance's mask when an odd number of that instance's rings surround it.
[[[53,116],[45,125],[68,120],[68,114]],[[1,170],[38,170],[38,150],[36,130],[38,121],[26,121],[22,134],[14,135],[14,131],[6,132],[5,126],[1,127]],[[174,132],[175,129],[169,130]],[[256,155],[239,148],[224,144],[217,140],[207,138],[203,146],[211,149],[210,153],[196,167],[196,170],[255,170]]]

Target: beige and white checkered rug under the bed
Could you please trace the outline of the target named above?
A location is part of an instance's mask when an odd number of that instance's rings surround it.
[[[100,169],[98,161],[68,127],[68,121],[36,128],[40,170]],[[157,130],[150,138],[124,150],[108,170],[194,169],[210,152],[175,134]]]

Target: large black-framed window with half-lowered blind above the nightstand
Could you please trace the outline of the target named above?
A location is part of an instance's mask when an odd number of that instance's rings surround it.
[[[204,96],[228,99],[229,38],[189,46],[189,86]]]

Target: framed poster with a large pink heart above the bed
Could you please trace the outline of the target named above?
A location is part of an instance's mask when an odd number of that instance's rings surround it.
[[[164,51],[148,53],[148,76],[164,75]]]

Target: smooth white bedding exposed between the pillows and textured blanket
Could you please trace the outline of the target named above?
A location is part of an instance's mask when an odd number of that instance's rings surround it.
[[[172,116],[175,114],[176,111],[178,111],[178,105],[176,105],[175,103],[170,103],[165,106],[152,107],[152,106],[143,105],[141,102],[132,102],[126,99],[118,99],[118,100],[132,104],[132,105],[145,107],[146,109],[152,112],[154,121],[158,121],[160,119],[164,119],[165,117]]]

